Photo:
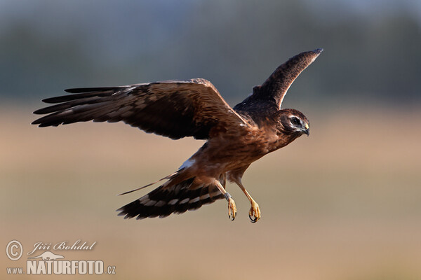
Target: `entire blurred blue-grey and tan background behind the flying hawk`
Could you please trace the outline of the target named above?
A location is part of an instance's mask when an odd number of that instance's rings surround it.
[[[421,279],[420,1],[1,0],[0,42],[1,246],[24,247],[15,262],[0,254],[2,278],[38,241],[81,239],[94,250],[62,255],[116,266],[100,279]],[[234,106],[315,48],[283,103],[309,118],[310,137],[243,178],[256,224],[234,185],[234,222],[222,200],[116,216],[147,190],[116,194],[171,174],[202,141],[30,125],[40,99],[69,87],[200,77]]]

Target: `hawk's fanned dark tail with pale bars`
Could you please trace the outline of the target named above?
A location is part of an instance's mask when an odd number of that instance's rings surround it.
[[[225,176],[221,175],[219,181],[225,187]],[[203,185],[196,182],[195,177],[180,181],[178,176],[171,176],[163,185],[116,211],[124,218],[164,218],[199,209],[203,204],[222,198],[225,197],[216,184]]]

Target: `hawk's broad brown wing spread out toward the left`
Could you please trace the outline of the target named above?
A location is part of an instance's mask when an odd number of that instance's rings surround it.
[[[169,80],[121,87],[76,88],[75,93],[44,99],[55,104],[35,111],[48,114],[39,127],[85,122],[123,121],[145,132],[180,139],[208,139],[213,127],[248,125],[208,80]]]

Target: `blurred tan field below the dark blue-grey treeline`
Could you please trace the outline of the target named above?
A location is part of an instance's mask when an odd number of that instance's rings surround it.
[[[97,243],[53,252],[103,260],[116,274],[10,278],[421,279],[420,112],[308,114],[310,137],[246,172],[262,210],[252,224],[234,185],[234,222],[225,200],[165,219],[123,220],[115,209],[147,190],[116,194],[171,174],[203,142],[122,123],[41,129],[29,125],[31,111],[0,111],[1,246],[24,246],[18,261],[0,254],[2,279],[6,267],[26,266],[34,243],[77,239]]]

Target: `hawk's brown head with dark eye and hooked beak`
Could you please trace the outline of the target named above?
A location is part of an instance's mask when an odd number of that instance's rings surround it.
[[[309,120],[298,110],[282,109],[278,114],[278,131],[281,134],[293,135],[295,138],[302,134],[310,134]]]

